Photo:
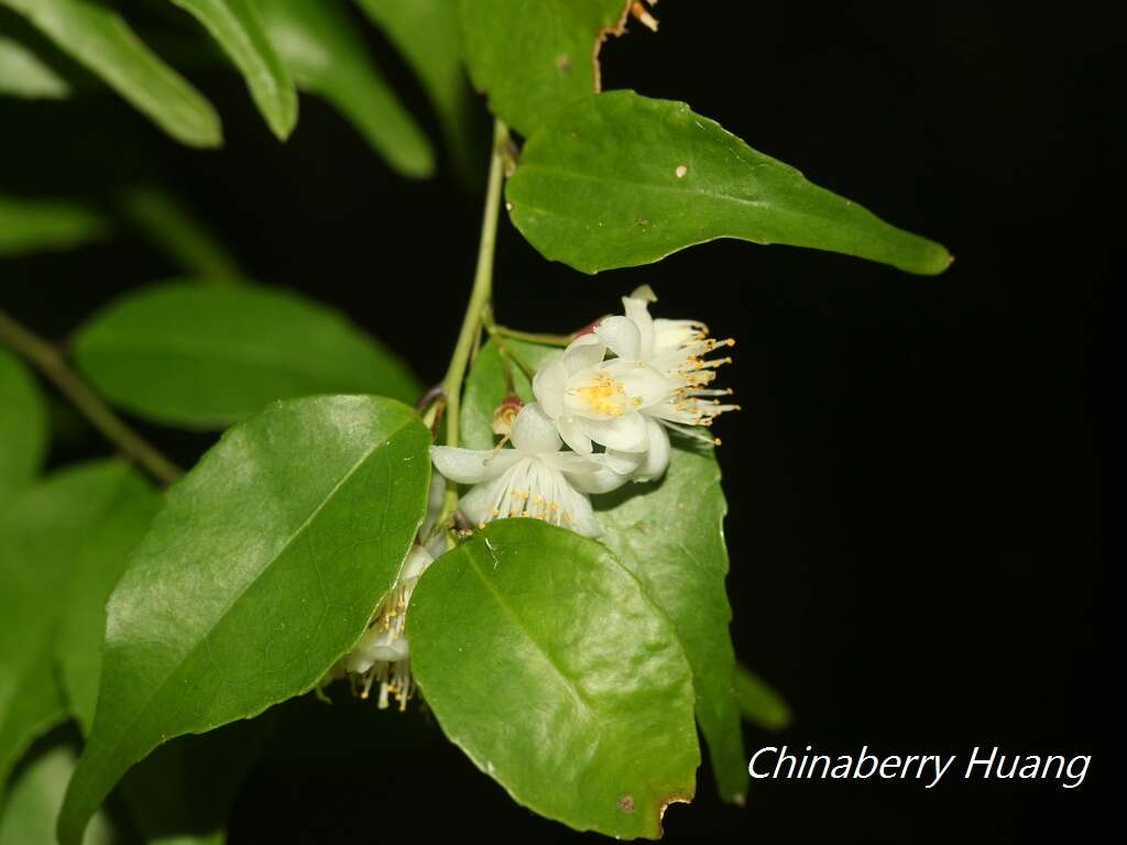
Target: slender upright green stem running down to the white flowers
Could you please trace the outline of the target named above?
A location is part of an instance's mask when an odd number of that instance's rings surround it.
[[[505,170],[505,144],[508,141],[508,127],[502,121],[494,126],[492,153],[489,160],[489,183],[486,189],[485,213],[481,219],[481,240],[478,244],[478,266],[473,274],[473,290],[470,302],[465,306],[465,317],[458,335],[458,345],[450,359],[450,367],[442,380],[442,389],[446,395],[446,445],[456,446],[459,441],[459,415],[462,402],[462,381],[470,363],[470,353],[481,335],[481,318],[492,297],[494,250],[497,244],[497,219],[500,211],[502,183]],[[458,506],[458,487],[451,484],[446,490],[442,521],[449,517]]]

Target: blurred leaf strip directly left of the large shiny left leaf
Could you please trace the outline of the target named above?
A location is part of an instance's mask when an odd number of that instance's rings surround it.
[[[98,701],[106,599],[160,509],[160,495],[124,464],[106,470],[103,487],[96,525],[83,533],[68,572],[55,640],[59,681],[83,733],[94,723]]]

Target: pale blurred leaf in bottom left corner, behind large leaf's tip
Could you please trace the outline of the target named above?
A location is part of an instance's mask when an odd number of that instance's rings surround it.
[[[26,760],[0,811],[0,845],[55,845],[55,819],[77,757],[70,745],[57,742]],[[95,816],[85,845],[115,840],[109,820],[101,813]]]

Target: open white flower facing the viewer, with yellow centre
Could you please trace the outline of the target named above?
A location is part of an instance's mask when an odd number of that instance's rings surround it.
[[[576,452],[591,454],[598,443],[618,453],[644,453],[642,411],[669,392],[668,381],[637,358],[603,361],[605,354],[601,337],[580,335],[540,367],[532,390]]]

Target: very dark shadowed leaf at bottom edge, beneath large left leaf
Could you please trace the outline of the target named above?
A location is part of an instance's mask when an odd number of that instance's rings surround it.
[[[273,722],[266,713],[178,737],[131,768],[122,792],[148,845],[222,845],[239,786]]]

